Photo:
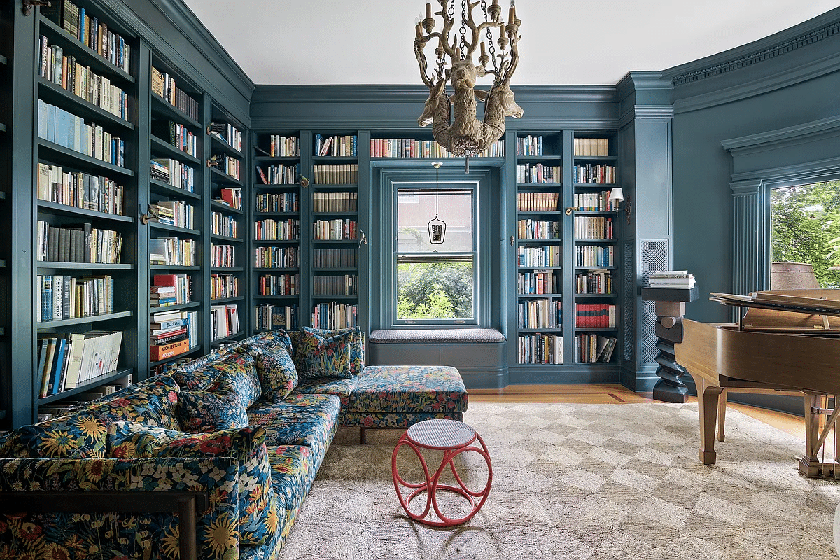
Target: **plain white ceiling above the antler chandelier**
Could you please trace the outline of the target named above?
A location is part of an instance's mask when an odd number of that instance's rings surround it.
[[[412,41],[423,0],[184,1],[257,84],[422,83]],[[507,19],[508,0],[500,3]],[[612,85],[628,71],[714,55],[832,8],[836,0],[517,0],[513,83]]]

